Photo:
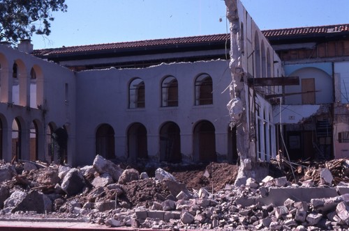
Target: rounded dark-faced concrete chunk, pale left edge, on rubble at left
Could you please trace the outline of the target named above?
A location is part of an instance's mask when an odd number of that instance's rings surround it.
[[[82,191],[85,186],[84,177],[76,168],[72,168],[64,177],[61,189],[67,193],[68,196],[74,196]]]

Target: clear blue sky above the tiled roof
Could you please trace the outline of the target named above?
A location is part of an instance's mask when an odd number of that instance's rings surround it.
[[[241,0],[260,29],[349,24],[349,0]],[[223,0],[66,0],[34,49],[227,33]]]

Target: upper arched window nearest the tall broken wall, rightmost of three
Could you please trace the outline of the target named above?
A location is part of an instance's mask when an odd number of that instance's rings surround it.
[[[200,74],[195,80],[195,105],[213,104],[212,78]]]

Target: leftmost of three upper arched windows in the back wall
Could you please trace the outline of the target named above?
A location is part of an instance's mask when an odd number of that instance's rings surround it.
[[[144,81],[140,78],[133,79],[128,87],[128,108],[145,107],[145,86]]]

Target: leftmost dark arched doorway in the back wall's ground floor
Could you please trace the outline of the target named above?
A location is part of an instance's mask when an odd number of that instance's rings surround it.
[[[105,159],[115,158],[114,129],[112,126],[103,124],[96,132],[96,154]]]

